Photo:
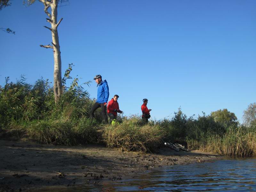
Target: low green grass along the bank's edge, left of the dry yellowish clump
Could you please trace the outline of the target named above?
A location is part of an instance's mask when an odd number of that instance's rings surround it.
[[[34,120],[27,125],[28,134],[34,140],[55,145],[76,145],[97,142],[95,121]]]

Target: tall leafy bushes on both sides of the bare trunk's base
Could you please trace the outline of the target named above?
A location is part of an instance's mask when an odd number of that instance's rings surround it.
[[[72,69],[69,65],[69,72]],[[68,71],[67,70],[67,71]],[[12,121],[31,121],[38,119],[79,119],[89,117],[92,100],[89,93],[74,78],[69,87],[66,79],[71,78],[65,73],[63,94],[55,104],[53,87],[43,78],[34,85],[26,83],[24,76],[16,83],[9,83],[9,77],[3,88],[0,88],[0,122],[2,125]],[[89,85],[90,82],[84,83]]]

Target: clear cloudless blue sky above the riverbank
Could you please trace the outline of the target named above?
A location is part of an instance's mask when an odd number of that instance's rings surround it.
[[[0,31],[0,84],[21,74],[52,81],[52,50],[39,47],[52,41],[43,4],[11,2],[0,11],[0,28],[15,31]],[[147,98],[156,119],[227,108],[242,123],[256,102],[254,0],[70,0],[60,18],[62,75],[68,63],[81,84],[102,75],[124,115],[140,114]],[[97,97],[93,80],[86,89]]]

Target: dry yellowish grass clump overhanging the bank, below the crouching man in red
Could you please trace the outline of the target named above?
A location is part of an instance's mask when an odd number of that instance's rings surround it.
[[[124,151],[154,151],[164,136],[159,125],[143,124],[139,117],[131,117],[123,123],[106,125],[103,140],[108,147]]]

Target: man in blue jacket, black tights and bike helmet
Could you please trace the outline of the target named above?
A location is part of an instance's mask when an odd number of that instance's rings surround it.
[[[94,116],[94,111],[97,108],[101,108],[101,113],[104,118],[105,123],[108,123],[108,116],[106,114],[106,106],[108,102],[108,83],[106,80],[102,81],[102,76],[101,75],[96,75],[94,78],[95,82],[97,83],[98,87],[98,94],[97,94],[97,100],[96,103],[92,106],[90,110],[90,118]]]

